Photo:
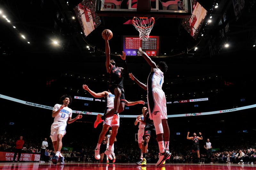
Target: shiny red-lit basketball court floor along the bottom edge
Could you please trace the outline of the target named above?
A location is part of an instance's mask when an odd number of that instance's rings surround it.
[[[53,165],[52,163],[40,164],[36,163],[0,163],[0,169],[98,169],[98,170],[198,170],[198,169],[222,169],[222,170],[251,170],[255,169],[253,164],[166,164],[164,166],[155,166],[155,164],[147,164],[147,166],[139,166],[133,163],[65,163],[65,165]]]

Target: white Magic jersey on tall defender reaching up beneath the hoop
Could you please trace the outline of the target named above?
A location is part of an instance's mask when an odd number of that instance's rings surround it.
[[[155,72],[151,72],[148,76],[148,84],[147,88],[148,91],[154,88],[162,89],[164,83],[164,73],[158,69]]]

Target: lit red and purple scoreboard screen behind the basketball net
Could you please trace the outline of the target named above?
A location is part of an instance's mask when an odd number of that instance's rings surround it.
[[[139,47],[146,52],[148,56],[159,55],[159,36],[149,36],[148,41],[140,40],[139,36],[124,35],[124,52],[126,55],[141,56]]]

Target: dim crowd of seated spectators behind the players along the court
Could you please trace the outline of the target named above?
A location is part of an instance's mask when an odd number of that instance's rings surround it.
[[[4,129],[0,129],[0,151],[12,152],[15,148],[15,142],[19,135],[6,132]],[[30,132],[33,133],[33,132]],[[33,135],[33,138],[23,138],[25,143],[23,145],[23,152],[27,153],[40,153],[41,144],[44,137]],[[28,135],[26,135],[28,136]],[[73,150],[62,151],[62,155],[65,157],[67,162],[98,162],[94,158],[94,148],[95,144],[83,144],[84,139],[77,139],[75,141],[66,141],[66,147],[72,147]],[[184,141],[185,138],[184,138]],[[49,147],[46,149],[44,155],[44,161],[51,162],[52,157],[55,152],[52,147],[51,139],[48,141]],[[202,142],[203,143],[203,142]],[[247,139],[246,141],[228,141],[221,143],[213,143],[214,148],[219,148],[218,151],[213,151],[212,155],[207,155],[204,148],[200,148],[200,161],[202,163],[250,163],[253,164],[256,161],[256,153],[254,148],[250,148],[255,143],[253,139]],[[170,150],[172,152],[171,159],[168,159],[167,163],[191,163],[193,162],[193,155],[190,152],[190,147],[188,143],[177,143],[175,141],[170,144]],[[244,148],[244,149],[240,149]],[[158,145],[149,143],[147,154],[147,162],[155,163],[158,159]],[[221,151],[221,152],[220,152]],[[137,162],[140,157],[140,150],[138,143],[134,142],[132,144],[115,144],[116,162]],[[106,155],[104,156],[103,162],[106,162]]]

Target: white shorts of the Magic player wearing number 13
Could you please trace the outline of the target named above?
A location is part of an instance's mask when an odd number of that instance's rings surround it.
[[[52,142],[57,141],[58,134],[64,136],[66,134],[67,122],[53,122],[51,126]]]

